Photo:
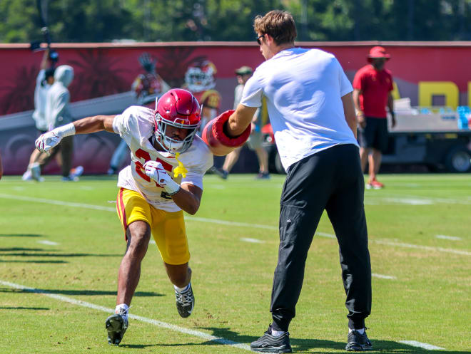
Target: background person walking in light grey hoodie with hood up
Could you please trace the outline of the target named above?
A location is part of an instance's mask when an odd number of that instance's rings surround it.
[[[46,121],[49,130],[61,125],[71,123],[72,115],[69,110],[70,93],[67,88],[74,80],[74,68],[61,65],[54,73],[54,83],[46,95]],[[78,176],[83,173],[83,167],[78,166],[71,171],[72,157],[74,153],[73,137],[65,137],[61,143],[50,150],[48,154],[39,155],[38,164],[42,168],[58,153],[61,153],[61,175],[64,182],[78,181]]]

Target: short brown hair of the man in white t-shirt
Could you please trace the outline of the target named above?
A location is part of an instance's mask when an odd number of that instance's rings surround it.
[[[275,43],[293,43],[296,36],[296,26],[293,16],[287,11],[273,10],[265,16],[256,16],[253,21],[255,33],[269,34]]]

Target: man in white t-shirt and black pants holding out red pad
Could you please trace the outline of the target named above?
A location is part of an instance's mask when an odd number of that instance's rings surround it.
[[[346,349],[371,349],[365,333],[371,308],[370,254],[352,85],[332,54],[294,47],[295,22],[288,12],[257,16],[253,26],[265,62],[245,84],[226,131],[240,135],[265,95],[288,175],[280,201],[280,246],[270,306],[273,325],[250,348],[291,352],[288,326],[295,316],[315,229],[327,210],[338,239],[347,295]]]

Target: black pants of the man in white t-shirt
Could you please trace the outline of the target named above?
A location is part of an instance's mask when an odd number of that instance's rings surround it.
[[[290,166],[280,201],[280,248],[270,307],[275,330],[288,330],[295,316],[309,246],[324,209],[339,244],[348,326],[365,327],[371,266],[364,189],[355,145],[336,145]]]

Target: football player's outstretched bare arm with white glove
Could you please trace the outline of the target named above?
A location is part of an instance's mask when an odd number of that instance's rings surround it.
[[[106,130],[114,132],[113,119],[116,115],[95,115],[93,117],[76,120],[74,123],[56,127],[50,132],[45,132],[36,139],[36,148],[41,152],[49,152],[61,142],[62,138],[75,134],[88,134]]]

